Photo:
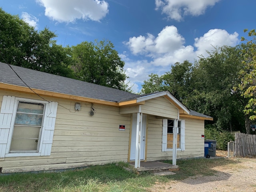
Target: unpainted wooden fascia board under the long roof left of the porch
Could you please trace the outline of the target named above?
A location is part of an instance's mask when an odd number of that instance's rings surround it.
[[[90,103],[98,103],[98,104],[105,104],[105,105],[111,105],[111,106],[119,106],[117,102],[112,101],[104,101],[104,100],[98,100],[98,99],[92,99],[92,98],[86,98],[76,95],[68,95],[63,93],[57,93],[52,91],[46,91],[46,90],[40,90],[40,89],[34,89],[30,90],[28,87],[18,86],[18,85],[12,85],[12,84],[5,84],[0,82],[0,90],[9,90],[9,91],[16,91],[16,92],[23,92],[23,93],[33,93],[36,92],[36,94],[40,96],[51,96],[54,98],[66,98],[76,101],[83,101],[83,102],[90,102]]]

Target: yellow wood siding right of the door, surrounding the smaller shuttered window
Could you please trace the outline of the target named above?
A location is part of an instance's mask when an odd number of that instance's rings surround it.
[[[204,120],[185,119],[185,151],[177,158],[204,156]],[[148,117],[147,161],[172,159],[172,151],[162,152],[162,119]]]

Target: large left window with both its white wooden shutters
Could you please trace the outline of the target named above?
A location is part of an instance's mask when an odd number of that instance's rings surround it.
[[[57,102],[4,96],[0,111],[0,158],[50,155],[57,106]]]

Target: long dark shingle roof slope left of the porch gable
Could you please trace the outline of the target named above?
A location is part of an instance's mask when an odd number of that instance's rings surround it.
[[[112,102],[120,102],[140,97],[140,95],[137,94],[80,80],[13,65],[11,65],[11,67],[30,88]],[[24,82],[18,78],[13,70],[8,66],[8,64],[0,62],[0,82],[26,87]]]

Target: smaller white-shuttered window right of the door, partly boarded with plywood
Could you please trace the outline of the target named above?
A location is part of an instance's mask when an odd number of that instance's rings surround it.
[[[176,129],[175,129],[176,128]],[[163,119],[162,151],[171,151],[177,131],[177,150],[185,150],[185,120]]]

